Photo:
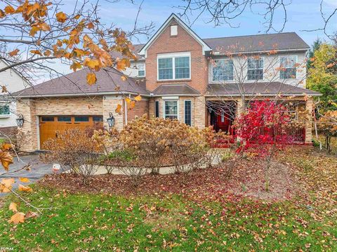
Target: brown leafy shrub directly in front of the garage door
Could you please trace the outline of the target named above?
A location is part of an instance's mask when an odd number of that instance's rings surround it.
[[[47,140],[43,146],[47,150],[41,154],[46,162],[69,166],[73,173],[82,176],[85,185],[97,171],[102,147],[89,137],[86,131],[79,128],[70,128],[58,132],[58,138]]]

